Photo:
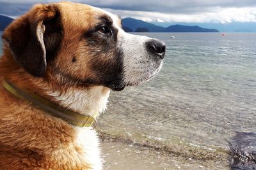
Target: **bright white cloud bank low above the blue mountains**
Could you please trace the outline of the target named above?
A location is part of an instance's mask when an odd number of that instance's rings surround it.
[[[230,23],[256,22],[256,8],[220,8],[211,12],[195,14],[159,13],[148,11],[128,11],[105,9],[125,17],[133,17],[147,22],[188,22],[188,23]]]

